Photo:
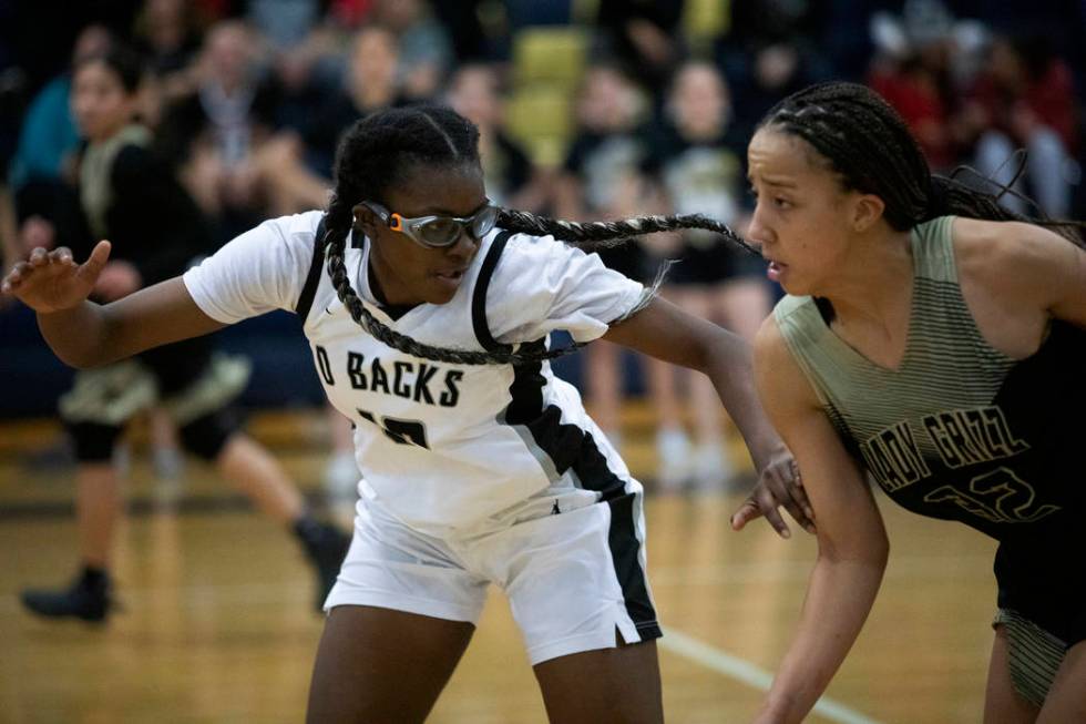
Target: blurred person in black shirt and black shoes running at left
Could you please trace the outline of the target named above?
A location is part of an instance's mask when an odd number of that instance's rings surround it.
[[[133,121],[141,80],[139,59],[115,48],[81,61],[72,86],[72,106],[88,140],[79,170],[80,203],[89,231],[109,237],[114,249],[94,286],[102,302],[175,276],[211,251],[195,202],[150,151],[151,132]],[[76,375],[60,409],[79,460],[82,570],[70,588],[23,592],[28,610],[88,621],[103,621],[113,610],[110,548],[121,512],[113,452],[125,425],[160,399],[188,450],[293,528],[316,568],[322,602],[348,539],[316,520],[286,471],[240,431],[232,401],[247,379],[247,363],[213,355],[207,338]]]

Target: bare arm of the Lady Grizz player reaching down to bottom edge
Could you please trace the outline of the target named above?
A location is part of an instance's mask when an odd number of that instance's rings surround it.
[[[874,603],[889,554],[882,518],[770,317],[755,343],[758,391],[795,452],[818,516],[818,559],[799,626],[757,722],[799,722],[826,690]]]

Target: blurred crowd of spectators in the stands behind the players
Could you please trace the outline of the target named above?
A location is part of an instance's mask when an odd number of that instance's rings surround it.
[[[85,247],[71,69],[111,45],[145,61],[139,119],[206,220],[203,253],[325,206],[340,132],[418,102],[480,126],[500,204],[705,213],[741,232],[755,124],[829,79],[870,83],[941,172],[967,166],[959,177],[1005,187],[1017,211],[1082,218],[1084,19],[1083,0],[0,1],[4,267],[39,245]],[[664,259],[679,261],[665,296],[746,336],[777,294],[758,259],[699,233],[605,258],[646,282]],[[617,439],[617,351],[588,349],[582,381]],[[660,458],[675,462],[662,482],[726,478],[719,405],[674,376],[644,371]]]

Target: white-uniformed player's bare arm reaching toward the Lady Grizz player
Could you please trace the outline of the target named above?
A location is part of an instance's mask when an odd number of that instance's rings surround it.
[[[760,475],[759,512],[786,538],[788,526],[777,512],[781,504],[800,526],[813,531],[813,516],[791,455],[758,401],[746,341],[659,297],[614,325],[603,338],[707,375],[746,440]]]

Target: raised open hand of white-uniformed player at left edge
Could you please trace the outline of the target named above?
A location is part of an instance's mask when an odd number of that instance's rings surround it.
[[[30,258],[12,267],[0,283],[0,292],[39,314],[71,309],[90,296],[109,258],[110,243],[104,241],[83,264],[75,263],[69,248],[49,252],[39,246]]]

